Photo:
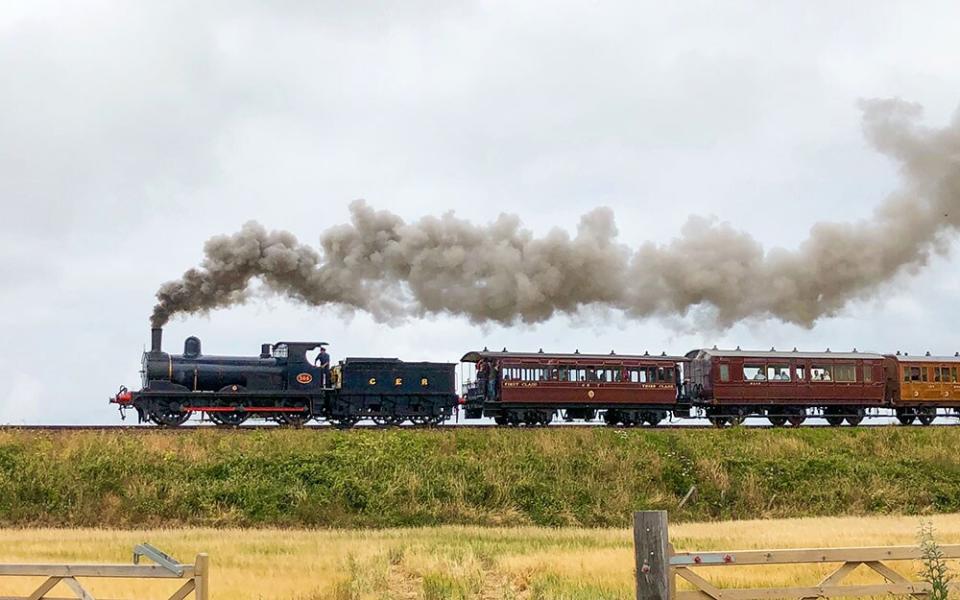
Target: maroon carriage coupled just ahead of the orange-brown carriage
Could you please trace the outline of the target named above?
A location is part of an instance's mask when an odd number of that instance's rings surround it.
[[[822,415],[857,425],[865,409],[887,403],[884,357],[865,352],[693,350],[689,394],[714,425],[766,416],[797,426]]]

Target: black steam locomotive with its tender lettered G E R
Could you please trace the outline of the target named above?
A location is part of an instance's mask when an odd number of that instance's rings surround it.
[[[339,427],[361,419],[434,425],[458,403],[452,363],[347,358],[326,371],[306,356],[324,342],[263,344],[256,357],[207,356],[200,340],[189,337],[176,355],[163,352],[162,336],[154,329],[143,354],[143,388],[121,388],[110,400],[121,413],[134,408],[140,422],[176,427],[202,413],[230,427],[251,417],[284,425],[311,419]]]

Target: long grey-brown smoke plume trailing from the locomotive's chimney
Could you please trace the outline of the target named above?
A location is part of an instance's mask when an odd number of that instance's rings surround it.
[[[929,129],[918,125],[916,104],[869,100],[861,108],[867,139],[900,164],[903,185],[870,219],[817,223],[793,251],[765,251],[748,234],[701,217],[668,244],[634,250],[617,242],[607,208],[585,214],[573,237],[553,230],[538,238],[515,216],[487,225],[453,214],[406,223],[356,201],[350,224],[325,231],[319,251],[254,222],[212,238],[198,268],[157,292],[153,325],[244,302],[259,280],[309,305],[385,321],[448,313],[536,323],[587,307],[638,318],[706,307],[720,326],[750,317],[811,326],[924,266],[960,225],[960,116]]]

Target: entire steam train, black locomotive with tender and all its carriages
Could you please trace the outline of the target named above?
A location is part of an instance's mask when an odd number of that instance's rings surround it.
[[[468,352],[475,376],[456,390],[453,363],[347,358],[329,373],[309,363],[323,342],[264,344],[257,357],[207,356],[189,337],[183,354],[162,351],[152,332],[143,387],[111,398],[121,413],[165,427],[201,413],[218,425],[247,419],[338,427],[439,425],[462,406],[467,419],[542,426],[602,419],[612,426],[656,426],[705,416],[717,427],[762,417],[774,426],[823,418],[833,426],[893,414],[931,424],[960,416],[960,353],[922,357],[867,352],[699,349],[684,356]]]

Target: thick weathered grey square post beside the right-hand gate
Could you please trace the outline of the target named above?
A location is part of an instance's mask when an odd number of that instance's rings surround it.
[[[672,600],[669,543],[667,511],[633,513],[637,600]]]

